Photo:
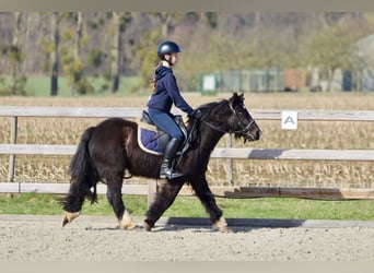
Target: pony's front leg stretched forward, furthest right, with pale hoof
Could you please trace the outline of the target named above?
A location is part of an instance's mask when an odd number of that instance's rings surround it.
[[[191,181],[192,189],[196,195],[206,207],[207,213],[210,215],[210,221],[214,227],[221,233],[229,232],[226,219],[222,216],[222,210],[217,205],[215,198],[209,189],[206,177]]]

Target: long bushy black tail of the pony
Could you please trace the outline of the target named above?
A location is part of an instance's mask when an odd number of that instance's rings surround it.
[[[89,153],[89,142],[94,130],[95,127],[90,127],[83,132],[77,152],[71,158],[70,189],[68,195],[60,202],[65,211],[80,211],[84,198],[87,198],[91,203],[97,201],[96,183],[100,177]]]

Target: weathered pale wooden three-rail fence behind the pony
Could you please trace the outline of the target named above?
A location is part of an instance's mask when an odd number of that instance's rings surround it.
[[[13,119],[10,144],[0,144],[0,154],[10,155],[8,182],[0,182],[0,192],[39,192],[66,193],[68,183],[31,183],[10,182],[14,173],[15,155],[72,155],[77,145],[38,145],[16,144],[19,117],[59,117],[59,118],[139,118],[141,108],[124,107],[19,107],[1,106],[0,117]],[[374,121],[374,111],[344,110],[296,110],[299,120],[324,121]],[[180,114],[176,111],[176,114]],[[282,110],[252,110],[256,120],[281,120]],[[221,149],[217,147],[212,158],[241,159],[287,159],[287,161],[374,161],[373,150],[287,150],[287,149]],[[105,192],[100,185],[98,193]],[[309,199],[374,199],[372,189],[313,189],[313,188],[246,188],[246,187],[211,187],[218,197],[259,198],[259,197],[296,197]],[[150,181],[148,186],[124,185],[126,194],[148,194],[149,200],[155,194],[157,182]],[[189,188],[180,192],[184,195],[194,194]]]

